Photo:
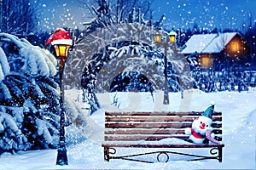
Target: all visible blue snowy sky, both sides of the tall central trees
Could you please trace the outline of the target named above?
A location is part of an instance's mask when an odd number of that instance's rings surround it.
[[[44,30],[70,26],[83,28],[82,23],[91,20],[77,0],[44,0],[40,3],[40,27]],[[41,8],[42,7],[42,8]],[[167,29],[217,27],[241,30],[247,27],[249,14],[256,22],[256,0],[154,0],[154,20],[166,14]]]

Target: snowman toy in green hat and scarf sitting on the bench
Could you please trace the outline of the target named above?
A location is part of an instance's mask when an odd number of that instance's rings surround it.
[[[218,140],[214,139],[212,133],[212,112],[215,102],[211,102],[211,106],[203,112],[202,116],[195,119],[192,123],[192,128],[186,128],[185,133],[189,135],[189,142],[195,144],[208,144],[209,141],[214,144],[219,144]]]

